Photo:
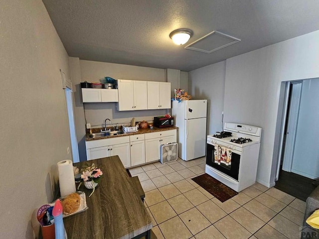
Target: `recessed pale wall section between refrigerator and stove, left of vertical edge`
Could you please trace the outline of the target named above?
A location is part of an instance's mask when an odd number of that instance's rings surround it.
[[[193,100],[207,99],[207,134],[222,130],[225,65],[222,61],[188,73],[188,93]]]

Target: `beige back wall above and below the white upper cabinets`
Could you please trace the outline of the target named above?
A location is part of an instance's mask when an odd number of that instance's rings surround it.
[[[80,161],[86,160],[84,111],[86,120],[88,123],[91,123],[92,127],[101,127],[106,118],[111,119],[114,125],[116,125],[116,123],[121,125],[122,123],[130,122],[133,117],[136,118],[137,121],[153,120],[154,116],[165,114],[165,110],[117,111],[116,103],[83,104],[80,87],[80,82],[100,82],[100,80],[104,79],[105,76],[109,76],[114,79],[164,82],[164,69],[86,61],[79,60],[79,58],[74,57],[69,57],[69,62],[72,84],[75,91],[74,112]]]

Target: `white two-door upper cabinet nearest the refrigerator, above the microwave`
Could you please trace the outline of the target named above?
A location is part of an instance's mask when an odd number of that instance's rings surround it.
[[[148,81],[148,109],[170,109],[170,83]]]

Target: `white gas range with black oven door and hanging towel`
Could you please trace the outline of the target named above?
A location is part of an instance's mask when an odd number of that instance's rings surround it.
[[[226,122],[207,136],[205,172],[240,192],[256,182],[261,127]]]

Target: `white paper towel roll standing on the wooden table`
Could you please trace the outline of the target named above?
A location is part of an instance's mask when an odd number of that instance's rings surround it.
[[[59,170],[59,183],[61,197],[64,197],[70,193],[74,193],[75,180],[73,173],[73,164],[71,160],[63,160],[57,163]]]

